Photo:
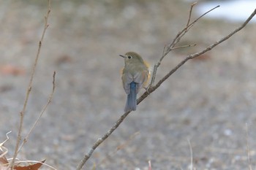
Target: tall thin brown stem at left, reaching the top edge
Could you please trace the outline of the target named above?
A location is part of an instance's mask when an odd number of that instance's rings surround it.
[[[22,130],[23,130],[24,113],[26,112],[26,105],[28,104],[28,101],[29,101],[29,96],[30,96],[30,92],[31,92],[31,89],[32,89],[32,82],[34,80],[34,74],[35,74],[36,68],[37,68],[37,62],[38,62],[39,53],[40,53],[41,46],[42,46],[42,41],[43,41],[44,36],[45,36],[45,31],[46,31],[46,29],[49,26],[48,25],[49,15],[50,15],[50,0],[48,0],[48,12],[45,15],[45,26],[44,26],[44,29],[42,31],[41,39],[39,40],[39,45],[38,45],[38,49],[37,49],[37,55],[36,55],[36,58],[35,58],[35,61],[34,61],[34,66],[32,68],[31,77],[30,77],[30,81],[29,81],[29,86],[28,86],[28,89],[26,90],[26,98],[25,98],[25,101],[24,101],[24,104],[23,104],[23,109],[20,112],[20,125],[19,125],[19,129],[18,129],[18,137],[17,137],[17,142],[16,142],[16,146],[15,146],[15,152],[14,152],[14,155],[13,155],[13,158],[12,158],[12,162],[10,163],[11,170],[14,167],[14,162],[15,162],[15,159],[16,159],[16,157],[18,155],[18,148],[19,148],[21,134],[22,134]]]

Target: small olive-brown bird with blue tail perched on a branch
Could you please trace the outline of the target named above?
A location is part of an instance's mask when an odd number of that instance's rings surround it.
[[[127,93],[127,103],[124,107],[124,112],[136,110],[137,93],[141,88],[145,88],[146,83],[150,78],[148,71],[148,63],[135,52],[128,52],[125,55],[120,55],[124,58],[124,69],[121,69],[121,80],[123,87]]]

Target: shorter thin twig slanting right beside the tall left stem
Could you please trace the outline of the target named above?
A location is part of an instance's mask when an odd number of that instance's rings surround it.
[[[40,118],[42,117],[42,114],[45,112],[45,109],[48,107],[48,105],[50,104],[52,98],[53,98],[53,93],[54,93],[54,90],[55,90],[55,75],[56,75],[56,72],[53,72],[53,89],[50,93],[50,96],[48,98],[48,102],[47,104],[45,104],[45,107],[42,108],[42,111],[40,112],[39,114],[39,117],[37,117],[37,120],[34,122],[34,124],[32,125],[29,133],[26,135],[26,137],[23,139],[23,142],[20,144],[20,148],[18,149],[18,152],[20,152],[21,148],[23,147],[23,145],[28,141],[29,139],[29,135],[31,134],[31,132],[34,130],[34,128],[36,127],[37,123],[39,122]]]

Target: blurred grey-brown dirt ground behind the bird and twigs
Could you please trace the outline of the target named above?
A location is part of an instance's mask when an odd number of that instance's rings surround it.
[[[49,28],[34,77],[23,136],[56,91],[20,160],[75,169],[85,152],[115,123],[126,94],[118,54],[135,51],[152,65],[164,45],[187,24],[185,1],[53,1]],[[47,1],[0,1],[0,142],[12,157]],[[195,15],[192,18],[196,18]],[[227,35],[241,23],[200,20],[162,62],[157,80],[187,55]],[[203,57],[189,61],[132,112],[83,169],[195,169],[256,167],[256,25]],[[246,123],[248,137],[246,137]],[[120,150],[118,150],[118,148]],[[48,168],[44,168],[48,169]]]

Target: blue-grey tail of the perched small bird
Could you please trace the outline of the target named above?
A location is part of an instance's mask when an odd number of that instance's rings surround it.
[[[136,93],[136,83],[131,82],[130,84],[130,92],[127,95],[127,104],[124,107],[124,112],[136,110],[137,106],[137,93]]]

